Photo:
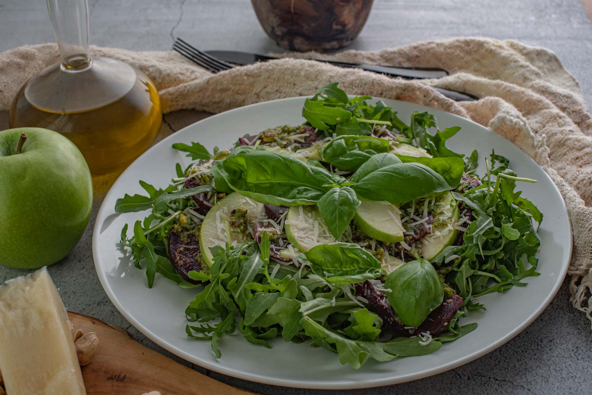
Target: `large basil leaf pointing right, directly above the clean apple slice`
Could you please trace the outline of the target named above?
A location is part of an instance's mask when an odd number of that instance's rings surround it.
[[[372,171],[357,182],[353,190],[362,198],[386,200],[394,205],[456,187],[421,163],[391,164]]]

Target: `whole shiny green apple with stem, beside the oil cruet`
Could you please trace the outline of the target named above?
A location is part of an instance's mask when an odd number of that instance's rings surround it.
[[[91,172],[76,145],[47,129],[0,131],[0,264],[56,263],[78,243],[91,208]]]

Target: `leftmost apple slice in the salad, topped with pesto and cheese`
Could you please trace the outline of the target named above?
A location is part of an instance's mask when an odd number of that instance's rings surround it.
[[[200,250],[205,263],[211,266],[213,263],[210,247],[220,245],[224,247],[227,241],[226,222],[230,222],[230,212],[234,209],[247,211],[249,219],[255,219],[263,211],[263,205],[253,199],[245,198],[237,192],[230,193],[226,198],[216,203],[205,215],[200,231]],[[230,228],[231,241],[243,242],[244,238],[236,229]]]

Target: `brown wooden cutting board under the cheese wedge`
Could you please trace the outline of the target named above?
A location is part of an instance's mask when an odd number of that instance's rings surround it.
[[[68,312],[74,328],[96,332],[99,349],[82,367],[88,395],[253,395],[220,383],[191,368],[144,347],[130,335],[99,319]]]

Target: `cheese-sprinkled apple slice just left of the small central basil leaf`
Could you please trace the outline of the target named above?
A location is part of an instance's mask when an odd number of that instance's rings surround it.
[[[335,242],[317,206],[291,206],[284,221],[284,231],[288,241],[300,251]]]

